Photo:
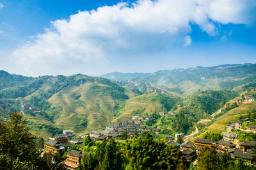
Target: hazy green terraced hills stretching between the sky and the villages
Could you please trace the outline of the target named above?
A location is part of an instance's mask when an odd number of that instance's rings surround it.
[[[198,66],[155,73],[115,72],[100,77],[77,74],[33,78],[0,71],[0,100],[14,111],[21,111],[20,102],[28,102],[41,111],[25,116],[31,122],[31,130],[44,136],[65,129],[86,133],[139,115],[154,116],[152,126],[163,128],[163,132],[188,134],[193,123],[210,118],[245,90],[241,87],[250,88],[248,84],[256,81],[255,73],[255,64]],[[189,120],[174,123],[173,118],[165,125],[159,112],[168,111],[177,112],[179,120]],[[7,112],[0,109],[0,121],[4,121]],[[182,127],[184,123],[188,126]]]

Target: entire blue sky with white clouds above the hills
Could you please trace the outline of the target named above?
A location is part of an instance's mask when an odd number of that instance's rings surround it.
[[[0,0],[0,70],[101,75],[256,63],[255,0]]]

